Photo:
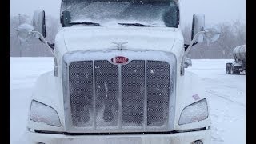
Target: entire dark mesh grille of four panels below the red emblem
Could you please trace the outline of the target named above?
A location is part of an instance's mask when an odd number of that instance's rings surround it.
[[[70,107],[66,114],[70,114],[71,127],[92,132],[168,129],[174,89],[168,62],[132,60],[115,65],[107,60],[76,61],[66,65],[66,71],[64,102]]]

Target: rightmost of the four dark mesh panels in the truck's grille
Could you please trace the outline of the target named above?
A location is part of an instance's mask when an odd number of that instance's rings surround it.
[[[168,63],[154,61],[147,63],[147,125],[149,126],[162,126],[168,118],[169,74]]]

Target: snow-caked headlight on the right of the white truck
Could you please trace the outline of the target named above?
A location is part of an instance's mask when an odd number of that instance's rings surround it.
[[[182,110],[179,118],[179,125],[199,122],[208,118],[208,105],[206,99],[194,102]]]

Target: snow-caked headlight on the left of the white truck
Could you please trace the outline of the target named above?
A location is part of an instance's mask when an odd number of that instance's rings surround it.
[[[54,110],[54,108],[35,100],[31,102],[30,120],[38,123],[46,123],[50,126],[61,126],[57,111]]]

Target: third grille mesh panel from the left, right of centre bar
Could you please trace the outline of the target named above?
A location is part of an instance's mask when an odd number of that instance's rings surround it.
[[[145,62],[122,66],[122,126],[142,126],[145,99]]]

